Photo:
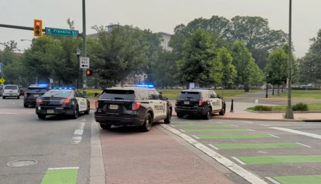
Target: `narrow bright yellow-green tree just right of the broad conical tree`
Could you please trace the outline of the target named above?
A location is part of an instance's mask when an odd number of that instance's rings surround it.
[[[232,65],[233,58],[225,47],[217,49],[216,59],[218,60],[218,62],[221,62],[223,64],[221,80],[223,84],[222,89],[224,90],[224,87],[226,85],[232,84],[234,82],[237,71],[235,66]]]

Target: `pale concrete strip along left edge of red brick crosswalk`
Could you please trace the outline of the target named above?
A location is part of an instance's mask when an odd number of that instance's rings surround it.
[[[90,184],[106,184],[104,161],[102,158],[98,123],[92,116],[90,139]]]

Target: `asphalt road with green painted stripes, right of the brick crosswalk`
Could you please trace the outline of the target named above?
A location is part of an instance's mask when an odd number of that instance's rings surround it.
[[[273,184],[269,180],[271,178],[274,184],[321,183],[321,136],[315,138],[292,133],[300,131],[303,134],[319,135],[320,123],[200,120],[185,117],[173,118],[170,127],[221,154],[266,183]],[[287,131],[274,127],[285,128]],[[308,175],[315,177],[309,178]],[[230,179],[238,184],[247,183],[245,180],[237,181],[235,177]]]

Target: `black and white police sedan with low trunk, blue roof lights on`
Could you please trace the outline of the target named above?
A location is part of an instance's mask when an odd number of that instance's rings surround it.
[[[75,88],[54,88],[36,101],[36,114],[39,119],[48,115],[70,115],[77,119],[80,112],[89,114],[90,103]]]

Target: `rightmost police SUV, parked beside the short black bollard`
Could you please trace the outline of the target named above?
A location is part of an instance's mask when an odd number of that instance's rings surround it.
[[[225,110],[225,101],[211,88],[183,90],[175,101],[175,112],[178,118],[183,118],[184,115],[199,115],[210,119],[213,113],[224,115]]]

